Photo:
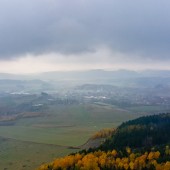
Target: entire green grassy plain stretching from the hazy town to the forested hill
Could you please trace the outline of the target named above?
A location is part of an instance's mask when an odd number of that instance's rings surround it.
[[[50,106],[45,116],[18,119],[12,126],[0,127],[0,169],[34,169],[75,151],[68,146],[84,144],[96,131],[143,114],[111,105]]]

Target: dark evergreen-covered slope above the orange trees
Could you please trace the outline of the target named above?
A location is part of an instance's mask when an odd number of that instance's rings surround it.
[[[103,150],[152,147],[170,142],[170,114],[141,117],[122,123],[102,146]]]

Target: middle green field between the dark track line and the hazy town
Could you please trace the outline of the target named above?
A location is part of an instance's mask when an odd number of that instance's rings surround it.
[[[96,131],[115,127],[136,115],[110,106],[54,106],[47,116],[16,120],[1,126],[0,136],[44,144],[82,145]],[[70,140],[71,139],[71,140]]]

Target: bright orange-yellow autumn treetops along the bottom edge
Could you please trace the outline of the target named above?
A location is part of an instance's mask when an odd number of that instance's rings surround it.
[[[129,151],[130,148],[128,148]],[[128,152],[127,157],[118,157],[117,151],[95,151],[94,153],[75,154],[56,159],[50,164],[42,165],[38,170],[102,170],[122,169],[140,170],[155,167],[156,170],[170,170],[170,162],[158,163],[160,152],[144,153],[143,155]]]

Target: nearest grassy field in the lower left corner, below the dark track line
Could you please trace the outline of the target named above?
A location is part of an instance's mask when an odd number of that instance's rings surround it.
[[[0,138],[0,169],[31,170],[44,162],[75,152],[66,147]]]

